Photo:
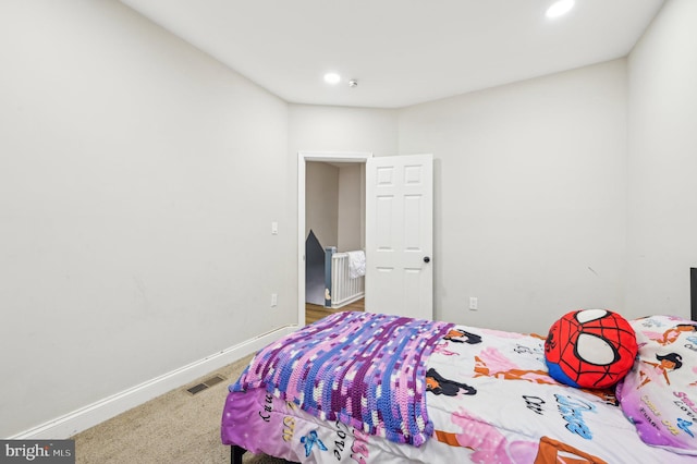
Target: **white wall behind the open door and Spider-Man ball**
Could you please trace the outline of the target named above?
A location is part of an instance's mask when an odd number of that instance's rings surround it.
[[[436,318],[546,333],[624,309],[624,60],[406,108],[399,137],[435,157]]]

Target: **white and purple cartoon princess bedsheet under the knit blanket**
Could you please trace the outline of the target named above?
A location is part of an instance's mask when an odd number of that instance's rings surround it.
[[[424,363],[432,436],[419,447],[321,419],[265,388],[229,393],[222,441],[301,463],[694,462],[645,444],[612,391],[549,377],[540,337],[451,325]]]

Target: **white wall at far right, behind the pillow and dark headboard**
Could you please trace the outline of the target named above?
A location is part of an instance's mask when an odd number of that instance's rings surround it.
[[[697,2],[669,0],[628,59],[626,307],[689,317],[697,267]]]

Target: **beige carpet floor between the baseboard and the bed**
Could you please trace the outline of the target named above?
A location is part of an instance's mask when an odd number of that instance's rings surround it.
[[[201,377],[112,419],[72,437],[76,463],[222,464],[230,448],[220,442],[220,418],[228,384],[236,380],[252,356]],[[225,380],[192,395],[187,388],[216,375]],[[245,453],[249,464],[282,460]]]

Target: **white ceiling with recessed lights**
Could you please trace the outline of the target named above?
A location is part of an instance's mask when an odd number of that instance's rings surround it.
[[[377,108],[625,57],[663,4],[576,0],[549,20],[552,0],[121,1],[289,102]]]

